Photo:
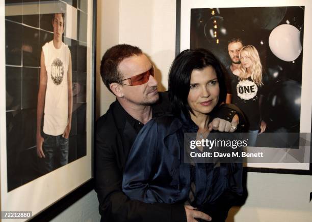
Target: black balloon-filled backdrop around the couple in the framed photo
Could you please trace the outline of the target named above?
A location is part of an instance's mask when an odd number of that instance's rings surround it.
[[[231,63],[230,39],[240,38],[258,50],[265,83],[266,132],[299,132],[303,21],[304,7],[191,9],[191,49],[211,50],[224,67]],[[270,35],[279,45],[269,45]]]

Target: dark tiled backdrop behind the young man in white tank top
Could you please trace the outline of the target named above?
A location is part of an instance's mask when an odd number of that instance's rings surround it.
[[[8,192],[40,176],[36,153],[40,53],[65,13],[63,42],[72,58],[73,112],[68,162],[86,155],[87,4],[85,0],[6,0]]]

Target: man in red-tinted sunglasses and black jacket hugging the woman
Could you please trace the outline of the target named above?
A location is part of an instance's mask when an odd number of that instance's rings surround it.
[[[98,119],[95,132],[95,191],[101,221],[209,220],[209,215],[187,208],[183,203],[146,204],[129,200],[122,192],[123,170],[139,131],[152,117],[170,113],[170,103],[166,93],[157,91],[152,64],[138,47],[117,45],[108,49],[102,57],[100,73],[107,88],[116,96],[107,113]],[[225,110],[226,114],[229,112],[236,111]],[[217,118],[211,129],[236,128],[238,117],[235,116],[232,122]]]

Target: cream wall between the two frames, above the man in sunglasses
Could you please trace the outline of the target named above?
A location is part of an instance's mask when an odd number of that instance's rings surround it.
[[[175,0],[121,0],[119,43],[139,46],[154,62],[159,90],[175,57]]]

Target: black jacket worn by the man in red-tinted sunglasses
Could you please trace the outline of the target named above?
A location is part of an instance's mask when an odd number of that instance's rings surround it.
[[[152,106],[152,116],[170,112],[167,99]],[[165,97],[166,98],[166,97]],[[160,105],[161,104],[161,105]],[[129,200],[122,192],[122,174],[129,150],[137,137],[134,120],[118,101],[101,116],[95,132],[95,181],[101,221],[186,221],[184,204],[146,204]]]

